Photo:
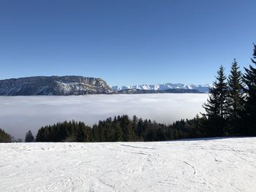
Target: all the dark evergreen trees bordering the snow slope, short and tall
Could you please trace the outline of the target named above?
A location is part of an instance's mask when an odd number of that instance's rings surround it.
[[[134,142],[165,141],[200,137],[256,136],[256,45],[252,65],[242,74],[234,59],[230,74],[223,66],[217,71],[210,88],[205,112],[191,120],[178,120],[171,125],[121,115],[99,120],[94,126],[65,121],[45,126],[37,132],[36,142]],[[184,109],[185,110],[185,109]],[[10,136],[0,129],[0,142]],[[26,141],[33,142],[29,131]]]

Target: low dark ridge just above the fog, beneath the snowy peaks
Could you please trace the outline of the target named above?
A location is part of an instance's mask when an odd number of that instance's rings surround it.
[[[143,94],[143,93],[202,93],[195,89],[183,89],[183,88],[169,88],[167,90],[143,90],[143,89],[124,89],[118,91],[122,94]]]

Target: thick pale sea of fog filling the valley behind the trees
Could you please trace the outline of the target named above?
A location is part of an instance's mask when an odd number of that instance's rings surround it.
[[[82,120],[91,126],[99,120],[126,114],[170,124],[202,112],[207,96],[202,93],[0,96],[0,128],[24,139],[29,129],[36,136],[40,127],[64,120]]]

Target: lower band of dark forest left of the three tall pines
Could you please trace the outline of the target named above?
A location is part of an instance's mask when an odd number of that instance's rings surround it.
[[[178,120],[170,126],[135,115],[121,115],[92,127],[83,122],[64,121],[39,129],[36,142],[152,142],[173,139],[203,137],[200,131],[201,118]]]

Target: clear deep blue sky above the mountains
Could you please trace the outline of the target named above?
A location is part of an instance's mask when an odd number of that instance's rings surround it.
[[[211,83],[233,58],[251,64],[255,10],[255,0],[1,0],[0,79]]]

